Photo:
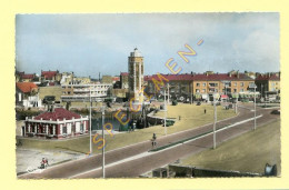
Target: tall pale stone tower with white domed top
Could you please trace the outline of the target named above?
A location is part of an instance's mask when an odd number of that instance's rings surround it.
[[[133,101],[142,102],[143,94],[140,93],[143,87],[143,57],[140,51],[134,48],[128,58],[129,70],[129,98]]]

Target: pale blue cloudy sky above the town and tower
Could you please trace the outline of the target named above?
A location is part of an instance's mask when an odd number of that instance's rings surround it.
[[[279,30],[277,12],[17,14],[16,68],[119,76],[138,48],[144,74],[171,73],[165,66],[170,58],[180,73],[276,72]],[[185,44],[197,52],[188,63],[178,54],[189,52]]]

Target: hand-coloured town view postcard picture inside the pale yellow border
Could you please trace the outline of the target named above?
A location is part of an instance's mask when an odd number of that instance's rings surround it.
[[[18,179],[282,177],[278,12],[14,19]]]

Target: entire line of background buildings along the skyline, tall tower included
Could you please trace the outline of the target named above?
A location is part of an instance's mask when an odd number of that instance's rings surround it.
[[[159,80],[157,74],[144,76],[143,57],[136,48],[128,57],[128,72],[120,72],[120,76],[102,76],[100,79],[90,77],[77,77],[73,72],[41,71],[37,74],[16,72],[17,79],[17,102],[26,107],[39,107],[40,100],[37,97],[38,87],[58,86],[61,93],[61,101],[83,101],[92,98],[93,101],[103,101],[107,97],[134,98],[133,101],[142,101],[143,94],[139,93],[144,89],[146,93],[155,98],[163,97],[165,87],[156,89],[153,80]],[[173,99],[183,100],[210,100],[217,93],[221,98],[250,97],[253,94],[249,87],[257,84],[257,93],[261,97],[268,94],[279,96],[280,72],[253,73],[230,71],[228,73],[182,73],[162,74],[166,79],[166,90]],[[18,101],[19,100],[19,101]]]

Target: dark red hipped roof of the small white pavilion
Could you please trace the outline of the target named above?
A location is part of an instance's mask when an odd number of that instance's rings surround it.
[[[52,121],[57,121],[58,119],[59,120],[71,120],[72,118],[74,117],[74,119],[79,119],[81,118],[80,114],[78,113],[74,113],[74,112],[71,112],[71,111],[68,111],[63,108],[56,108],[53,112],[44,112],[44,113],[41,113],[37,117],[34,117],[36,120],[52,120]]]

